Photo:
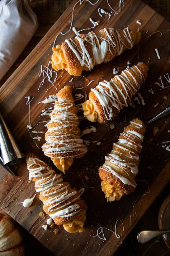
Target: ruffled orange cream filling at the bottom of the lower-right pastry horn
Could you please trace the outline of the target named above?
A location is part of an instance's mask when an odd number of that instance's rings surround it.
[[[105,194],[105,198],[107,198],[107,202],[119,201],[121,197],[124,195],[124,192],[115,187],[115,185],[111,185],[106,183],[105,181],[101,181],[101,189]]]

